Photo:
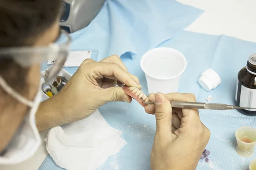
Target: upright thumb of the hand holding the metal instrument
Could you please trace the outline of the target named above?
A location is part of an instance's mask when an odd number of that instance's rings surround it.
[[[160,136],[166,136],[172,133],[172,107],[169,99],[162,93],[156,93],[155,107],[156,107],[156,132]]]

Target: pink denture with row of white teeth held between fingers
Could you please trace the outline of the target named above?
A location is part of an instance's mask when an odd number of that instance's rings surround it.
[[[137,102],[140,103],[143,107],[147,106],[148,104],[145,104],[144,102],[149,102],[148,96],[145,95],[142,91],[140,91],[136,87],[128,87],[127,85],[123,86],[123,89],[126,94],[131,96],[133,99],[135,99]],[[143,102],[144,101],[144,102]]]

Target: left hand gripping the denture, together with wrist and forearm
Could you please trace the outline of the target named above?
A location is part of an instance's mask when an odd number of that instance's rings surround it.
[[[61,91],[41,103],[36,115],[38,129],[84,119],[107,102],[131,102],[120,87],[123,84],[142,88],[118,56],[100,62],[85,59]]]

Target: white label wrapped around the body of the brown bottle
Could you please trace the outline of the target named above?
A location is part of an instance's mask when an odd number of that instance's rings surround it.
[[[237,85],[236,93],[238,93],[238,85]],[[236,99],[237,99],[237,94],[236,94]],[[243,85],[241,85],[239,106],[247,107],[247,108],[256,108],[256,89],[246,88]],[[256,109],[245,109],[245,110],[256,111]]]

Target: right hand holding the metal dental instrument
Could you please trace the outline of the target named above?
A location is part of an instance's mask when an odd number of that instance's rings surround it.
[[[145,107],[155,113],[156,134],[151,150],[152,170],[195,170],[210,137],[198,110],[177,109],[169,101],[196,102],[193,94],[150,94],[155,105]]]

